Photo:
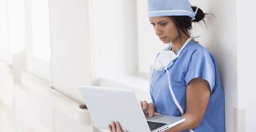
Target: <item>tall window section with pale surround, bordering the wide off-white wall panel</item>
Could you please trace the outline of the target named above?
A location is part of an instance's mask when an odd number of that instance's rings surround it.
[[[23,4],[20,4],[24,5]],[[51,82],[51,48],[48,1],[25,1],[25,71]]]

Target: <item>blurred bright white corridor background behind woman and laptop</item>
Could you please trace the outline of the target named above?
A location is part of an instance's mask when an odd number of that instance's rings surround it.
[[[226,131],[253,132],[256,2],[190,2],[215,16],[192,35],[215,55]],[[149,66],[168,45],[149,23],[146,0],[0,0],[0,132],[106,131],[78,85],[133,89],[151,102]]]

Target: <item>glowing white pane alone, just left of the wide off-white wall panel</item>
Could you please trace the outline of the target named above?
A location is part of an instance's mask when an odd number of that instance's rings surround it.
[[[48,0],[31,0],[33,55],[51,61]]]

